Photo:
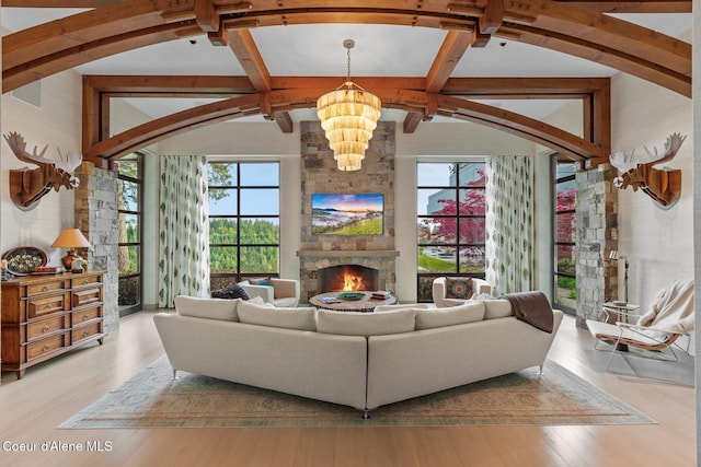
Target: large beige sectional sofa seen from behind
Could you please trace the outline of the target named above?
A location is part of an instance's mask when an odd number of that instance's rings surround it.
[[[503,299],[450,308],[347,313],[175,299],[154,323],[176,371],[347,405],[381,405],[542,365],[553,332]]]

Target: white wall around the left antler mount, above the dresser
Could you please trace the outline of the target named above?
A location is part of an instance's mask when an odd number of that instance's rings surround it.
[[[41,152],[48,144],[46,156],[57,157],[57,150],[81,151],[81,78],[66,71],[42,81],[42,106],[26,104],[11,93],[2,94],[1,128],[3,135],[16,131],[24,137],[27,151]],[[51,248],[62,229],[73,227],[73,191],[61,188],[44,196],[30,211],[20,210],[11,200],[8,188],[11,168],[36,165],[19,161],[4,139],[0,156],[0,250],[18,246],[34,246],[50,257],[49,264],[59,266],[66,252]]]

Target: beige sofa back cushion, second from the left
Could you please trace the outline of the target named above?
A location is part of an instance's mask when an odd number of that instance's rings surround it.
[[[241,323],[286,329],[317,330],[314,312],[317,308],[277,307],[250,302],[239,304]]]

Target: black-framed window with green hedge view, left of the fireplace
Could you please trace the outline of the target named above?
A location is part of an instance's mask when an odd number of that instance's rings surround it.
[[[210,287],[279,276],[279,164],[210,162]]]

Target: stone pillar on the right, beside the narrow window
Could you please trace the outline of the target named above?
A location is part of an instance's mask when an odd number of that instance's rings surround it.
[[[601,305],[618,293],[618,265],[608,259],[610,250],[618,249],[618,188],[612,183],[617,175],[610,164],[600,164],[575,176],[579,327],[587,316],[601,315]]]

